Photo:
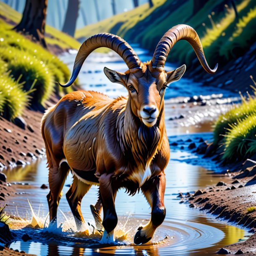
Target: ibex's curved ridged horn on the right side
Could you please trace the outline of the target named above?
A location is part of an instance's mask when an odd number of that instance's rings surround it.
[[[157,69],[157,71],[162,72],[165,67],[166,58],[172,49],[173,45],[179,40],[188,41],[193,47],[196,55],[205,69],[210,74],[216,72],[218,64],[216,64],[214,69],[211,69],[205,59],[204,50],[196,31],[188,25],[177,25],[169,29],[162,39],[157,44],[157,48],[154,52],[154,56],[152,58],[152,68]]]

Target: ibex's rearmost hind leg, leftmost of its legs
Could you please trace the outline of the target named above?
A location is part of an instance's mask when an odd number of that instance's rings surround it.
[[[49,187],[50,192],[47,195],[47,201],[50,212],[50,223],[51,225],[57,226],[57,208],[61,198],[61,191],[65,183],[65,179],[70,170],[66,162],[61,163],[61,160],[55,160],[54,163],[50,164],[49,168]]]

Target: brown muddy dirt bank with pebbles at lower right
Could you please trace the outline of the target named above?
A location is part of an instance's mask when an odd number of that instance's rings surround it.
[[[254,233],[256,231],[256,166],[247,167],[248,165],[249,163],[246,162],[242,170],[229,174],[228,183],[220,180],[215,186],[183,195],[182,201],[188,202],[191,208],[199,208],[213,214],[217,219],[235,222]],[[233,254],[241,250],[243,255],[256,255],[256,234],[243,243],[229,245],[225,249]]]

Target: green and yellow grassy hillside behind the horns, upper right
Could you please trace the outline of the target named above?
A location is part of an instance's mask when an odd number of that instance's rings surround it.
[[[214,11],[220,6],[222,10]],[[96,33],[109,32],[153,52],[168,29],[177,24],[188,24],[199,34],[206,59],[210,66],[214,66],[217,62],[226,63],[242,55],[256,40],[255,2],[237,0],[236,6],[239,19],[235,18],[231,7],[224,7],[222,0],[207,1],[195,14],[192,14],[193,0],[155,0],[154,8],[149,8],[146,3],[78,29],[75,37],[83,40]],[[168,58],[172,62],[185,63],[189,68],[196,55],[187,42],[181,41],[175,44]]]

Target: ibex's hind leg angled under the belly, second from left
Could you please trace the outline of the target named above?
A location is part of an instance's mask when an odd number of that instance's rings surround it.
[[[84,217],[81,212],[81,201],[90,188],[91,185],[86,184],[81,180],[78,180],[76,176],[73,176],[73,183],[66,193],[68,204],[75,217],[77,230],[81,230],[84,224]]]

